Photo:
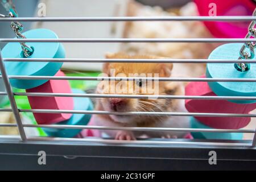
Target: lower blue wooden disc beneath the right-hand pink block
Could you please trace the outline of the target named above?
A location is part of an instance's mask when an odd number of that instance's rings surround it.
[[[192,129],[212,129],[209,126],[204,125],[197,121],[196,118],[191,117],[191,128]],[[226,139],[226,140],[242,140],[242,133],[213,133],[213,132],[192,132],[193,138],[195,139]]]

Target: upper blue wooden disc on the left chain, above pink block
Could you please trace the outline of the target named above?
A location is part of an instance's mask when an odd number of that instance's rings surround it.
[[[47,29],[35,29],[23,33],[31,39],[57,39],[55,32]],[[27,58],[27,62],[5,62],[8,75],[15,76],[54,76],[63,63],[33,62],[30,58],[65,58],[64,47],[60,43],[26,43],[34,48],[34,53]],[[2,49],[4,58],[23,58],[19,43],[8,43]],[[42,85],[47,80],[19,80],[11,79],[11,85],[20,89],[31,89]]]

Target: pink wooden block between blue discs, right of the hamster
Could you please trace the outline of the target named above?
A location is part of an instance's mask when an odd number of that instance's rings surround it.
[[[205,77],[205,76],[201,76]],[[185,88],[186,96],[216,96],[207,82],[191,82]],[[186,100],[185,107],[190,113],[235,113],[247,114],[256,104],[236,104],[225,100]],[[201,123],[216,129],[240,129],[249,124],[251,118],[195,117]]]

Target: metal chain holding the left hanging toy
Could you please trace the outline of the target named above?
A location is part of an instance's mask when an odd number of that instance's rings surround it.
[[[1,3],[2,3],[3,7],[5,7],[5,9],[7,11],[9,11],[9,16],[6,16],[6,17],[12,17],[12,18],[18,17],[18,13],[15,10],[15,6],[14,6],[12,0],[2,0]],[[23,26],[22,26],[21,23],[19,23],[19,22],[11,22],[10,26],[11,26],[11,29],[13,29],[13,31],[14,31],[14,33],[16,35],[16,38],[18,38],[18,39],[26,39],[26,36],[24,36],[24,35],[22,35],[20,33],[23,30]],[[34,52],[34,49],[31,48],[30,46],[27,46],[26,43],[22,43],[21,42],[20,46],[22,47],[23,55],[25,57],[31,56],[32,53]]]

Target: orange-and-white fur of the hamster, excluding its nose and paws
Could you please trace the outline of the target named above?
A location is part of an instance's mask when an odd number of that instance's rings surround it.
[[[108,59],[156,59],[159,57],[154,56],[143,56],[143,55],[135,55],[129,56],[124,53],[115,53],[106,55]],[[110,69],[115,70],[115,75],[111,75]],[[129,73],[157,73],[159,77],[170,77],[172,70],[171,63],[105,63],[103,67],[103,72],[108,74],[108,76],[117,76],[119,73],[125,74],[126,76]],[[123,77],[123,76],[120,76]],[[103,83],[104,81],[101,81]],[[107,89],[97,89],[97,93],[103,94],[120,94],[117,93],[116,90],[110,91],[111,86],[117,86],[120,81],[108,82],[109,88]],[[126,86],[127,83],[125,83]],[[136,82],[133,82],[133,85],[127,84],[127,88],[130,86],[134,87]],[[158,94],[159,95],[183,95],[184,89],[183,85],[179,82],[168,82],[168,81],[159,81],[158,83]],[[101,84],[99,84],[101,85]],[[145,84],[147,85],[147,84]],[[143,86],[141,86],[139,92],[122,92],[121,94],[140,94],[140,95],[153,95],[151,91],[156,90],[154,84],[152,84],[152,88],[147,89],[146,93],[142,93]],[[180,100],[170,100],[170,99],[142,99],[142,98],[126,98],[122,99],[122,102],[125,102],[125,105],[122,107],[118,107],[117,110],[113,110],[110,108],[110,100],[112,98],[98,98],[97,99],[97,110],[106,110],[106,111],[177,111],[179,109]],[[108,120],[110,125],[117,124],[118,126],[138,126],[138,127],[155,127],[161,126],[162,123],[165,125],[165,122],[168,122],[168,116],[142,116],[142,115],[126,115],[126,116],[118,116],[118,115],[98,115],[100,119]],[[107,123],[107,122],[106,122]],[[181,122],[182,123],[182,122]],[[107,125],[107,124],[106,124]]]

